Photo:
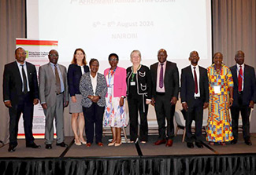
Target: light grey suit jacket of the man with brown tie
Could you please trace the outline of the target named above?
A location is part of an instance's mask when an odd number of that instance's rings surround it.
[[[58,64],[64,84],[64,103],[69,101],[69,90],[67,81],[67,69],[65,66]],[[54,71],[48,64],[39,67],[39,97],[41,104],[46,103],[51,107],[56,103],[56,79]]]

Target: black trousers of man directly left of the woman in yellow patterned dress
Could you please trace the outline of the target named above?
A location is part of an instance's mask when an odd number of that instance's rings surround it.
[[[190,104],[187,109],[186,116],[186,141],[192,143],[194,136],[191,132],[191,124],[195,120],[195,142],[200,142],[202,139],[202,114],[203,103],[200,98],[194,100],[193,104]]]

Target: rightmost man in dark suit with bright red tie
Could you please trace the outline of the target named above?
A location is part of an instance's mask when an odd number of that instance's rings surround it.
[[[250,141],[250,108],[254,108],[256,101],[256,85],[254,67],[244,64],[244,53],[239,50],[235,56],[236,65],[230,67],[234,81],[234,101],[231,109],[232,131],[236,144],[238,140],[238,119],[241,111],[243,121],[243,139],[245,144],[252,145]]]

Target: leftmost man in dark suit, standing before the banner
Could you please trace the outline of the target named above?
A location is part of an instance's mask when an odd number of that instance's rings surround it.
[[[9,108],[9,148],[17,147],[18,123],[21,113],[24,119],[24,133],[27,148],[39,148],[34,143],[32,121],[34,105],[39,103],[39,87],[35,66],[26,62],[23,48],[15,50],[16,61],[6,64],[3,75],[3,100]]]

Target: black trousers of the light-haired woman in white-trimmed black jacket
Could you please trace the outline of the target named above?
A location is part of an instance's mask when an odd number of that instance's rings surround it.
[[[147,111],[148,104],[142,96],[128,97],[129,118],[130,118],[130,139],[135,141],[138,137],[138,110],[140,118],[139,140],[147,141]]]

